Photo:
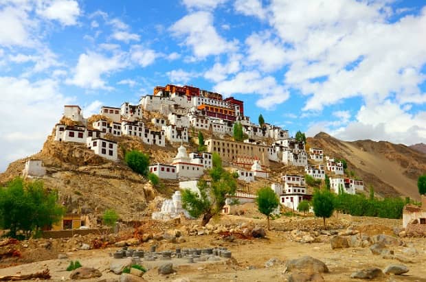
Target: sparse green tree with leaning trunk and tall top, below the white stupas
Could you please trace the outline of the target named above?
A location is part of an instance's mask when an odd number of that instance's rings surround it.
[[[210,184],[205,180],[199,180],[197,187],[199,193],[190,189],[182,190],[182,207],[193,218],[203,215],[201,225],[208,224],[214,215],[221,213],[225,206],[226,196],[232,196],[236,192],[236,178],[234,174],[225,171],[222,161],[217,153],[212,157],[212,169],[209,171]]]

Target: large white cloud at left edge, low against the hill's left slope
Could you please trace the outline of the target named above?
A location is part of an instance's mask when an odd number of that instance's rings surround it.
[[[0,171],[17,158],[41,150],[43,142],[71,99],[58,92],[54,80],[30,82],[26,79],[0,77]],[[19,113],[19,114],[16,114]]]

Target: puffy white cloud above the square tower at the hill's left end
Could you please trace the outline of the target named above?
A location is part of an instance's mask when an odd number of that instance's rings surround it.
[[[108,58],[102,54],[88,52],[80,55],[73,78],[66,82],[90,89],[111,90],[111,86],[107,86],[101,76],[119,71],[126,66],[128,66],[128,60],[124,54],[115,54]]]

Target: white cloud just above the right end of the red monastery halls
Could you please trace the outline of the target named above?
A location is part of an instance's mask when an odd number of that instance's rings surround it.
[[[262,77],[258,71],[240,72],[231,80],[219,82],[213,89],[224,95],[260,94],[256,105],[266,109],[272,109],[289,99],[289,91],[279,85],[273,76]]]

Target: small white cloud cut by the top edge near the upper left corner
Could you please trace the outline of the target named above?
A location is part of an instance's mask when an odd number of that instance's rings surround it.
[[[45,0],[38,2],[37,14],[62,25],[76,25],[80,7],[74,0]]]

